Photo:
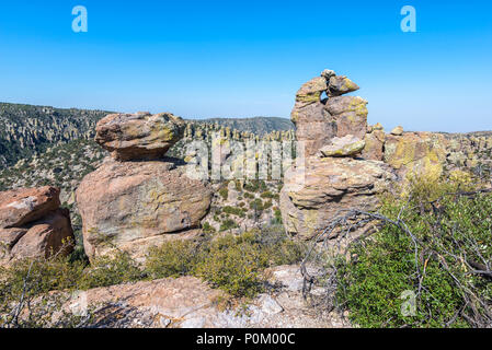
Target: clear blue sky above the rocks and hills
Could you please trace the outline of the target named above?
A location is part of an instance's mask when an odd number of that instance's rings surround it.
[[[75,5],[89,32],[71,30]],[[416,9],[417,33],[400,30]],[[369,122],[492,129],[492,2],[0,3],[0,101],[183,117],[288,117],[324,68],[358,83]]]

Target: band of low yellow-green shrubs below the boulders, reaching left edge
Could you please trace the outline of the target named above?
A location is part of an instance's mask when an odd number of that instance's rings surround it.
[[[141,280],[196,276],[231,298],[252,298],[264,288],[264,269],[298,262],[305,252],[304,245],[289,241],[278,226],[263,233],[251,231],[208,236],[198,242],[169,242],[151,249],[144,265],[124,252],[95,258],[90,265],[77,255],[19,260],[9,268],[0,267],[0,328],[53,327],[50,316],[64,303],[53,291],[70,292]],[[19,317],[21,311],[27,316]],[[61,327],[73,326],[79,320],[65,316]]]

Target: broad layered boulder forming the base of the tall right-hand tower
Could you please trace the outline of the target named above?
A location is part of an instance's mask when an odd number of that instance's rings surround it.
[[[290,168],[281,192],[281,210],[287,232],[310,240],[332,219],[351,208],[375,210],[377,195],[396,177],[382,162],[352,158],[306,160],[304,175]]]

